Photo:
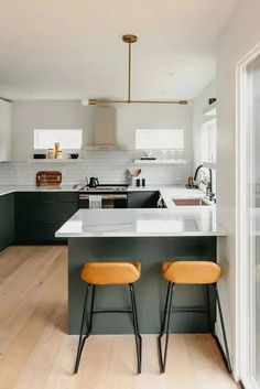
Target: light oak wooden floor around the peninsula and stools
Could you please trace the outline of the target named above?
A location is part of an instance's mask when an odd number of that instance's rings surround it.
[[[136,375],[133,336],[93,336],[72,375],[77,336],[66,335],[66,247],[0,253],[0,389],[232,389],[209,335],[172,335],[160,375],[156,337],[143,336]]]

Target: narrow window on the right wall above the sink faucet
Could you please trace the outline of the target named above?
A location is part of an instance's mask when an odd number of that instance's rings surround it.
[[[202,127],[202,162],[216,163],[216,118]]]

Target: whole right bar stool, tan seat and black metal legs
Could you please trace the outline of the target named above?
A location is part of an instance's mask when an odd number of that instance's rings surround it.
[[[219,312],[219,318],[221,324],[225,352],[217,338],[217,335],[212,333],[214,338],[217,342],[221,356],[224,358],[227,370],[231,372],[231,364],[228,352],[227,336],[224,325],[223,311],[220,305],[220,299],[217,289],[217,281],[221,278],[223,271],[220,267],[212,261],[165,261],[162,263],[162,277],[169,282],[163,322],[161,327],[161,333],[159,335],[159,357],[161,365],[161,372],[165,371],[166,367],[166,357],[167,357],[167,346],[169,346],[169,335],[171,332],[171,317],[173,314],[172,309],[172,299],[173,292],[176,284],[205,284],[207,287],[207,310],[205,311],[195,311],[201,313],[207,313],[208,320],[210,323],[210,306],[209,306],[209,288],[213,288],[215,295],[217,307]],[[182,310],[183,312],[183,310]],[[166,339],[164,344],[164,350],[162,350],[162,337],[166,334]]]

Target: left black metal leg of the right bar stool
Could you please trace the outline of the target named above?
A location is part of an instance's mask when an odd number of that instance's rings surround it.
[[[175,287],[174,283],[171,283],[171,282],[169,283],[162,331],[159,336],[159,356],[160,356],[161,372],[164,372],[166,367],[169,335],[171,329],[170,324],[171,324],[171,315],[172,315],[172,298],[173,298],[174,287]],[[162,353],[162,337],[165,333],[166,333],[166,339],[164,345],[164,352]]]

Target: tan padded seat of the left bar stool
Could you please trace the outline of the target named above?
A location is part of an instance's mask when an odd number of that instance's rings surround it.
[[[99,285],[124,284],[139,280],[140,262],[87,262],[80,277],[85,282]]]

